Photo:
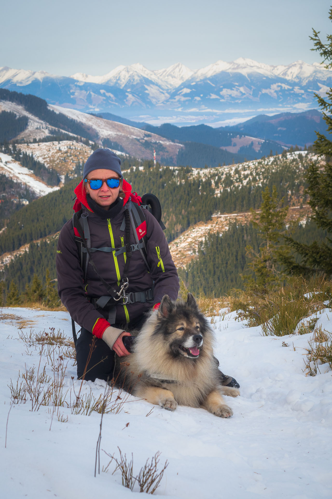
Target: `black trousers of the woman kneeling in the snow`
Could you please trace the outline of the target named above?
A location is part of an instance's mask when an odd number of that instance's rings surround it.
[[[139,330],[146,320],[141,315],[128,324],[113,324],[123,331]],[[76,342],[77,379],[95,381],[96,378],[108,381],[113,377],[115,352],[103,339],[96,338],[90,331],[82,327]]]

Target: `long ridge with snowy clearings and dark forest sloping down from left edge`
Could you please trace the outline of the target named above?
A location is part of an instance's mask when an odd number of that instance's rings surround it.
[[[47,105],[46,101],[33,95],[19,94],[0,88],[0,99],[2,99],[0,100],[0,125],[3,113],[7,120],[10,116],[13,121],[13,133],[10,139],[19,142],[49,141],[52,140],[52,136],[58,141],[70,140],[72,137],[73,140],[82,142],[83,137],[86,145],[94,141],[119,154],[152,159],[155,150],[156,158],[160,163],[194,167],[202,167],[205,164],[218,166],[218,164],[240,162],[244,159],[243,156],[229,153],[219,147],[192,142],[180,144],[179,141],[174,142],[169,138],[124,123],[106,120],[75,109]],[[0,126],[0,133],[1,130]],[[2,133],[2,140],[4,140],[7,136],[5,128]]]

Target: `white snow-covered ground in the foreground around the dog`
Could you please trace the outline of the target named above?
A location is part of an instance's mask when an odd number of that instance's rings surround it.
[[[6,319],[5,314],[13,315]],[[129,458],[132,453],[134,473],[160,451],[160,465],[167,459],[169,466],[156,495],[170,498],[331,498],[332,373],[306,376],[312,334],[264,337],[260,327],[235,321],[234,313],[214,322],[221,369],[241,385],[240,397],[226,398],[234,415],[220,419],[188,407],[172,413],[129,397],[121,412],[104,415],[101,449],[116,457],[117,447]],[[331,310],[319,313],[320,324],[332,331]],[[132,497],[122,487],[120,473],[111,474],[112,465],[109,473],[94,477],[100,414],[72,415],[65,407],[53,414],[46,406],[32,412],[27,401],[12,405],[8,416],[7,385],[12,381],[16,386],[18,373],[22,381],[25,366],[35,365],[37,371],[40,360],[39,345],[27,346],[19,339],[19,326],[25,333],[54,327],[71,337],[66,312],[1,310],[1,497]],[[73,360],[67,361],[65,385],[73,399],[76,371]],[[46,356],[39,371],[45,364],[46,374],[53,377]],[[74,380],[74,385],[77,392],[80,383]],[[82,394],[90,388],[98,397],[105,383],[88,382]],[[102,468],[109,458],[100,454]]]

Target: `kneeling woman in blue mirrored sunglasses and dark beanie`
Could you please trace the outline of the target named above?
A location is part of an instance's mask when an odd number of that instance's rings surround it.
[[[64,225],[57,249],[58,293],[81,326],[77,375],[91,381],[112,378],[114,352],[129,355],[123,338],[142,326],[145,313],[157,307],[164,294],[175,300],[179,291],[164,233],[147,210],[142,209],[146,226],[143,221],[137,236],[133,233],[131,186],[123,180],[120,165],[109,149],[97,149],[88,158],[83,181],[74,191],[74,210],[82,208],[81,217],[77,227],[72,220]],[[137,244],[145,234],[146,262]],[[86,275],[81,247],[89,263]]]

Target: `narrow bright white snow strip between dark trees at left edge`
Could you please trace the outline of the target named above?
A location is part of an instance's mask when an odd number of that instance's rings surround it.
[[[8,154],[0,153],[0,173],[4,173],[14,182],[19,182],[22,185],[26,184],[38,196],[45,196],[45,194],[59,189],[59,187],[49,187],[41,180],[38,180],[31,170],[14,161]]]

